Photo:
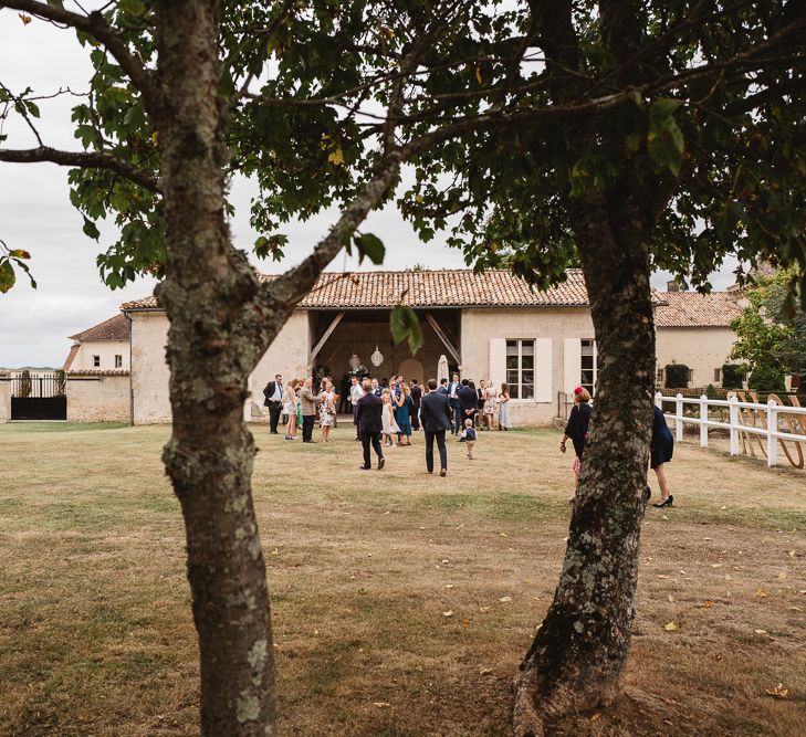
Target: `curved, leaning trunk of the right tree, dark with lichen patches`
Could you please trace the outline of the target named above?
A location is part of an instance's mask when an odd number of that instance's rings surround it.
[[[629,198],[627,198],[629,199]],[[619,691],[635,614],[655,387],[649,254],[617,198],[569,203],[598,350],[598,381],[554,601],[516,678],[517,737]]]

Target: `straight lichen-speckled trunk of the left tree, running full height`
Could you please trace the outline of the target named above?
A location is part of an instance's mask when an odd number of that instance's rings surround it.
[[[164,460],[187,534],[201,733],[265,737],[274,734],[273,647],[243,422],[247,380],[264,347],[254,327],[259,284],[224,220],[217,3],[160,0],[157,12],[167,242],[158,295],[170,319],[174,414]]]

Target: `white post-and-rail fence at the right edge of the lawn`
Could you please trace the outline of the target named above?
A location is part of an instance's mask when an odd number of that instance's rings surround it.
[[[705,394],[701,397],[663,397],[660,392],[655,396],[655,403],[662,410],[663,402],[674,402],[674,414],[667,414],[668,420],[674,422],[674,432],[677,441],[683,439],[683,425],[690,424],[700,427],[700,446],[708,448],[708,430],[709,428],[721,428],[728,430],[731,436],[731,455],[739,455],[739,443],[742,433],[750,435],[761,435],[766,440],[767,465],[774,466],[778,464],[778,441],[783,446],[786,441],[794,442],[799,449],[799,443],[806,443],[806,434],[796,434],[794,432],[782,432],[779,428],[781,415],[793,415],[796,421],[795,425],[806,432],[806,407],[787,407],[778,404],[771,399],[766,404],[755,402],[740,402],[735,396],[730,399],[709,399]],[[699,417],[687,417],[683,414],[685,404],[694,404],[700,408]],[[710,419],[709,409],[711,407],[726,407],[728,422]],[[743,419],[744,418],[744,419]],[[788,452],[784,446],[784,451],[788,456]],[[800,453],[798,452],[798,456]],[[795,463],[793,462],[793,465]]]

